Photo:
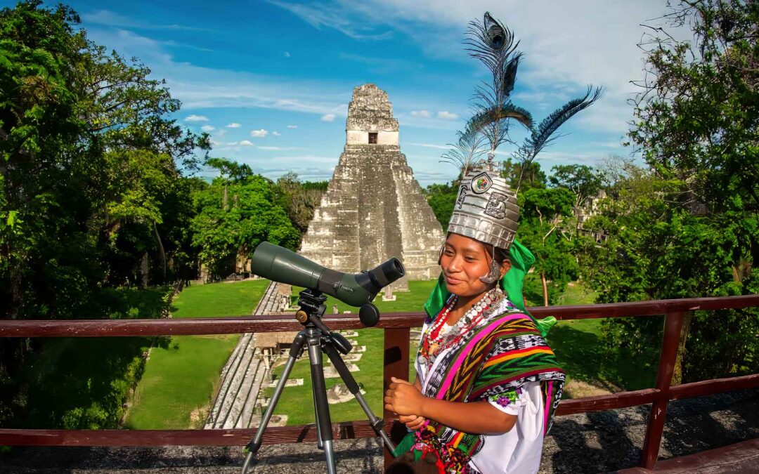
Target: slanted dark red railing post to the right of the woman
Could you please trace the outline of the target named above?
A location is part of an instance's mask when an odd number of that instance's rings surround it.
[[[672,384],[672,373],[675,371],[677,349],[680,343],[682,319],[682,311],[668,312],[664,319],[662,351],[657,372],[656,388],[658,392],[656,400],[651,404],[651,413],[648,416],[646,439],[643,442],[641,457],[641,466],[645,469],[653,469],[659,457],[659,447],[664,432],[664,420],[666,419],[666,406],[669,402],[669,387]]]

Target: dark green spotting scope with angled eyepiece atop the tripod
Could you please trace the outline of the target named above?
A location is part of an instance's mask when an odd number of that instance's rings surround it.
[[[269,242],[256,247],[250,270],[269,280],[319,290],[351,306],[371,303],[379,290],[405,275],[395,258],[366,272],[342,273]]]

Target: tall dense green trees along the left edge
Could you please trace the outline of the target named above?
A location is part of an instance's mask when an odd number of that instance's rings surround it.
[[[162,81],[91,42],[75,30],[78,22],[70,8],[36,0],[0,10],[5,317],[134,317],[139,311],[113,310],[105,289],[144,286],[151,271],[153,281],[166,281],[172,261],[193,259],[190,240],[177,230],[187,227],[182,202],[191,202],[178,165],[193,168],[208,139],[165,118],[179,102]],[[0,423],[36,410],[18,403],[32,386],[20,368],[36,349],[0,341]],[[102,425],[107,413],[112,424],[119,396],[107,397],[71,408],[68,422]]]

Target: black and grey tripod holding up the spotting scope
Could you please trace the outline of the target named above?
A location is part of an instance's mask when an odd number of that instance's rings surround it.
[[[329,360],[332,361],[332,366],[335,366],[335,369],[340,374],[340,378],[345,382],[345,385],[356,398],[358,404],[361,405],[361,409],[366,413],[369,424],[374,428],[376,434],[383,439],[391,452],[395,449],[389,436],[383,431],[383,425],[385,424],[383,419],[379,419],[374,415],[367,400],[361,394],[356,380],[342,361],[340,353],[347,354],[351,352],[353,347],[351,347],[351,344],[342,334],[329,331],[329,328],[322,322],[321,318],[326,309],[324,302],[327,300],[327,297],[318,290],[310,289],[301,291],[299,295],[298,305],[301,306],[301,309],[298,309],[298,312],[295,313],[295,319],[298,319],[298,322],[304,325],[304,329],[292,341],[292,347],[290,347],[290,353],[287,363],[285,363],[285,369],[282,371],[282,377],[277,381],[274,394],[271,400],[269,400],[266,412],[263,413],[260,425],[258,425],[258,429],[256,430],[256,435],[245,447],[247,456],[242,466],[242,474],[247,472],[250,463],[253,462],[254,457],[260,449],[261,442],[263,441],[263,432],[266,431],[266,425],[269,425],[274,408],[277,402],[279,402],[282,390],[285,389],[288,376],[295,365],[295,361],[301,357],[306,347],[308,347],[308,359],[311,364],[311,391],[313,392],[313,408],[316,413],[317,422],[317,447],[324,451],[328,474],[335,474],[336,471],[335,450],[332,446],[332,419],[329,416],[329,403],[327,403],[326,386],[324,383],[323,352],[327,354]]]

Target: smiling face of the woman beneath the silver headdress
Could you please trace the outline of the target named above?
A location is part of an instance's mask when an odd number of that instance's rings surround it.
[[[440,256],[440,267],[446,288],[459,297],[483,294],[490,286],[480,277],[490,272],[491,257],[479,240],[459,234],[449,234]]]

